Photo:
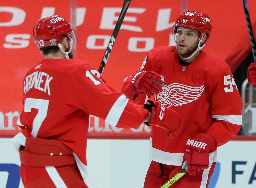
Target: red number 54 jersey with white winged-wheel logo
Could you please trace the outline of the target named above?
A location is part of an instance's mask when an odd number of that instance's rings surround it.
[[[216,55],[201,51],[189,65],[180,63],[174,47],[159,46],[147,53],[140,71],[154,71],[165,77],[162,91],[155,100],[180,114],[183,127],[177,137],[169,138],[157,126],[151,132],[151,159],[168,165],[181,165],[187,139],[197,133],[208,133],[217,146],[231,140],[242,124],[242,101],[230,68]],[[129,97],[131,77],[125,80],[122,92]],[[145,97],[133,101],[143,104]],[[170,122],[171,123],[171,122]],[[217,147],[210,153],[216,161]]]

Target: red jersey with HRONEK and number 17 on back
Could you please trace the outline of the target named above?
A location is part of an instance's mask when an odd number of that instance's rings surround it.
[[[148,110],[130,102],[81,60],[44,59],[27,72],[23,83],[19,127],[35,138],[59,140],[68,146],[84,180],[89,114],[112,126],[135,129],[149,116]],[[21,134],[14,140],[25,144],[26,135]]]

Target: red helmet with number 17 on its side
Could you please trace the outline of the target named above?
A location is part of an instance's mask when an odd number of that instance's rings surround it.
[[[59,46],[62,35],[66,35],[71,43],[77,42],[77,35],[70,24],[57,15],[39,19],[33,29],[34,42],[39,50],[48,46]]]

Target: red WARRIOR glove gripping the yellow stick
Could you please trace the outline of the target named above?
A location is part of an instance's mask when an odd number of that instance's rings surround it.
[[[198,133],[187,140],[183,162],[187,161],[189,175],[195,176],[197,172],[209,167],[210,151],[215,144],[215,139],[207,133]]]

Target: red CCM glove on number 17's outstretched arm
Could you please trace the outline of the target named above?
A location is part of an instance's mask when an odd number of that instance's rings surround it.
[[[179,114],[174,110],[166,108],[160,102],[147,100],[150,104],[144,104],[143,108],[151,112],[149,122],[146,125],[156,125],[167,131],[170,138],[174,138],[179,134],[183,125],[182,119]]]

